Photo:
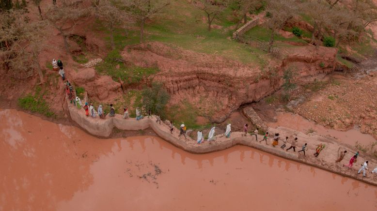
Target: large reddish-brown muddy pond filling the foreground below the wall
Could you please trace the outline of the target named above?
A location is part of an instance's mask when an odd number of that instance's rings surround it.
[[[376,211],[377,187],[248,147],[190,154],[0,111],[0,211]]]

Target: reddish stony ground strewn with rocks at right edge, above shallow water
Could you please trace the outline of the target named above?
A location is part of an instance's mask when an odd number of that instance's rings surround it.
[[[373,74],[331,75],[323,89],[293,111],[324,126],[347,130],[354,125],[377,138],[377,78]]]

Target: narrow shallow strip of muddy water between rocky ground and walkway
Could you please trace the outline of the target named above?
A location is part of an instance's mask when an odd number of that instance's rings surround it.
[[[361,145],[370,145],[376,142],[376,139],[369,134],[362,134],[357,129],[350,129],[348,131],[337,131],[333,129],[326,128],[322,125],[315,124],[313,121],[308,121],[300,115],[295,115],[291,113],[278,112],[276,116],[276,122],[268,122],[269,127],[288,127],[294,130],[307,133],[310,130],[317,132],[323,136],[332,136],[337,138],[339,141],[354,146],[356,142]]]

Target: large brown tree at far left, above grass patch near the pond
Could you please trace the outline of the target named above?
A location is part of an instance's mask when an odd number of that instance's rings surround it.
[[[43,39],[47,34],[45,21],[29,21],[21,11],[0,14],[0,43],[5,55],[3,64],[8,67],[8,76],[26,78],[37,70],[41,83],[43,72],[39,64],[39,53],[44,49]]]

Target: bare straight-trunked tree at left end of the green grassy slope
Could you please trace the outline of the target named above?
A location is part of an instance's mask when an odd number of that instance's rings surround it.
[[[169,0],[122,0],[126,9],[140,24],[140,43],[144,39],[144,26],[148,19],[153,18],[170,4]]]

